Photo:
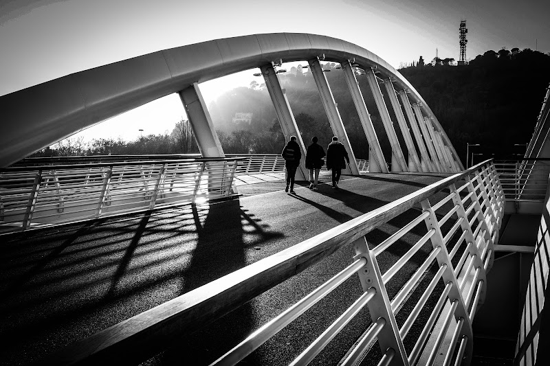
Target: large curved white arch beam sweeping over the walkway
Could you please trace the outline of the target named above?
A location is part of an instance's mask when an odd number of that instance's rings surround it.
[[[376,69],[383,78],[390,79],[396,91],[408,94],[419,122],[428,117],[432,141],[437,144],[439,139],[443,148],[441,158],[448,148],[448,155],[458,168],[463,168],[428,104],[388,62],[338,38],[296,33],[254,34],[164,49],[4,95],[0,97],[0,167],[194,83],[272,65],[276,60],[292,62],[319,56],[331,62],[353,60],[354,65]],[[430,139],[427,135],[425,138]]]

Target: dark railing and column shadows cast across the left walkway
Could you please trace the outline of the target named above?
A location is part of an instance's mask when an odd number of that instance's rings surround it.
[[[0,358],[34,361],[236,271],[247,264],[246,250],[281,236],[239,201],[102,219],[39,238],[14,234],[0,257]],[[238,329],[214,324],[212,337],[227,334],[230,344],[250,333],[252,308],[238,312]],[[203,345],[189,350],[206,352]]]

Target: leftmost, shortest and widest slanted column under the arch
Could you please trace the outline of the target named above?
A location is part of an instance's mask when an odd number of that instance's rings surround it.
[[[184,104],[202,157],[225,157],[199,84],[194,82],[190,87],[179,91],[179,98]]]

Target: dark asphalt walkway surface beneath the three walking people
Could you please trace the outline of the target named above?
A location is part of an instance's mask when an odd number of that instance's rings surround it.
[[[39,361],[69,343],[442,178],[437,174],[344,176],[340,190],[320,184],[318,191],[298,186],[296,194],[285,193],[282,181],[239,185],[240,196],[228,201],[0,236],[0,363]],[[367,236],[369,244],[381,242],[418,214],[411,209],[375,229]],[[382,272],[425,232],[425,227],[413,230],[410,239],[384,252]],[[408,279],[430,250],[428,243],[396,277]],[[341,271],[352,257],[351,247],[340,249],[204,330],[175,340],[144,364],[208,365]],[[390,283],[388,293],[395,295],[398,288],[399,284]],[[361,293],[354,275],[242,364],[290,363]],[[363,310],[312,365],[337,364],[370,323],[368,311]]]

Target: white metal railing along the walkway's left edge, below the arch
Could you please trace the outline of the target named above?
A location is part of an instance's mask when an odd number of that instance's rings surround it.
[[[24,230],[228,196],[241,160],[4,168],[0,170],[0,230]]]

